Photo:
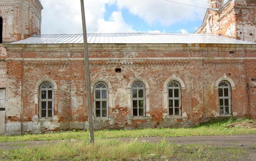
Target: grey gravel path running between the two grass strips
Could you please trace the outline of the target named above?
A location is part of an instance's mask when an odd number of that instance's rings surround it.
[[[132,138],[118,138],[123,142],[130,142]],[[140,142],[160,142],[163,137],[139,137]],[[165,137],[166,142],[175,144],[207,144],[213,146],[251,146],[256,145],[256,135],[221,135],[221,136],[184,136]],[[69,140],[68,140],[69,141]],[[36,145],[53,145],[61,141],[25,141],[0,143],[0,150],[33,147]]]

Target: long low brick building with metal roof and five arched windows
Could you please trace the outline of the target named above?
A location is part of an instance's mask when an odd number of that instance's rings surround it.
[[[31,7],[40,3],[19,2]],[[86,129],[83,36],[29,36],[2,44],[6,72],[0,132]],[[181,33],[87,37],[95,129],[188,127],[232,116],[256,118],[253,42]]]

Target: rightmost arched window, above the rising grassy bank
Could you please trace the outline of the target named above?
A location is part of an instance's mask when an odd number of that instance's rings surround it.
[[[221,81],[218,86],[219,114],[231,114],[231,85],[228,81]]]

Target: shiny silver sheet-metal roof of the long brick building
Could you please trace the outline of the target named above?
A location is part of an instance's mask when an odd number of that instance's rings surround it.
[[[255,44],[214,34],[195,33],[89,33],[88,44]],[[83,34],[34,35],[11,44],[77,44]]]

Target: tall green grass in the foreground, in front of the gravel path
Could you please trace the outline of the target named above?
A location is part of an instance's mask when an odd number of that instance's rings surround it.
[[[176,145],[97,139],[95,144],[84,141],[61,141],[54,145],[1,150],[2,160],[244,160],[242,147],[212,147],[207,145]]]

